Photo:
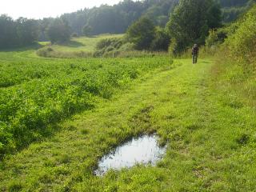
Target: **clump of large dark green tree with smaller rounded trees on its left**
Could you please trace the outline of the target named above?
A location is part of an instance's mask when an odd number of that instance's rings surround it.
[[[168,50],[180,54],[194,43],[204,45],[209,30],[222,26],[222,12],[214,0],[180,0],[164,28],[142,17],[126,36],[137,50]]]

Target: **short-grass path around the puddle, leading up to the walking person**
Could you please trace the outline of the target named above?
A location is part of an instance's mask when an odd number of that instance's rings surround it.
[[[53,138],[6,158],[0,189],[254,191],[255,110],[234,102],[225,84],[218,84],[213,65],[177,60],[172,70],[136,80],[126,93],[63,123]],[[154,130],[168,143],[157,167],[93,176],[103,154]]]

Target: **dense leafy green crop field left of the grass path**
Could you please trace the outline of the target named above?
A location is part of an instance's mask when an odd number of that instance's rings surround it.
[[[42,140],[55,129],[50,124],[91,109],[97,98],[111,98],[138,76],[170,65],[170,59],[160,57],[85,61],[26,58],[30,54],[33,50],[0,54],[1,154]]]

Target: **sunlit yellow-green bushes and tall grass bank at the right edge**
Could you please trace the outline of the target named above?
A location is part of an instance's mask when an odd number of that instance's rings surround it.
[[[234,98],[256,107],[256,6],[230,26],[230,34],[215,54],[218,86]],[[237,101],[239,100],[239,101]]]

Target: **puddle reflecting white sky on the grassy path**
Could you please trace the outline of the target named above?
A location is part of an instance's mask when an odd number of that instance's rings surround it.
[[[130,168],[137,163],[155,165],[165,153],[166,146],[158,146],[156,135],[144,135],[118,146],[116,150],[104,156],[95,174],[101,176],[106,174],[107,170]]]

